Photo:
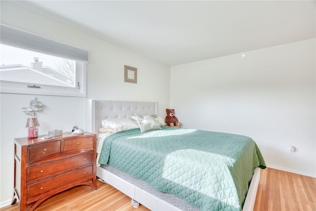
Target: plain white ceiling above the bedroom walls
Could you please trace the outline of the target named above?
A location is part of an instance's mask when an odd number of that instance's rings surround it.
[[[16,3],[173,66],[316,37],[316,1]]]

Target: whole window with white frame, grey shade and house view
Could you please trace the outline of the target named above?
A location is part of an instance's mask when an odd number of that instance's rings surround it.
[[[1,93],[86,96],[87,51],[0,27]]]

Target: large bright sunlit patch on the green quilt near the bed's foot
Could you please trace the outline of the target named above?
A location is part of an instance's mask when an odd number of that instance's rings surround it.
[[[165,157],[161,177],[169,180],[170,186],[189,189],[188,195],[194,193],[197,198],[212,199],[215,207],[238,210],[239,204],[233,200],[237,197],[237,190],[229,170],[235,163],[235,159],[220,154],[195,149],[177,150]],[[203,204],[209,205],[212,200],[203,201],[199,208],[204,207]]]

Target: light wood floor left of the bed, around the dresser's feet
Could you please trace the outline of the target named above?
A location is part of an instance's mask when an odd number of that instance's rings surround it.
[[[35,211],[135,211],[128,196],[99,180],[97,184],[98,190],[87,185],[66,190],[41,203]],[[7,206],[0,211],[18,211],[18,206]],[[137,211],[149,210],[140,205]]]

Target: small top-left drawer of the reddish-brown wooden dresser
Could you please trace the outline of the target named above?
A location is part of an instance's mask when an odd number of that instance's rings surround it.
[[[60,152],[60,140],[28,147],[28,162]]]

